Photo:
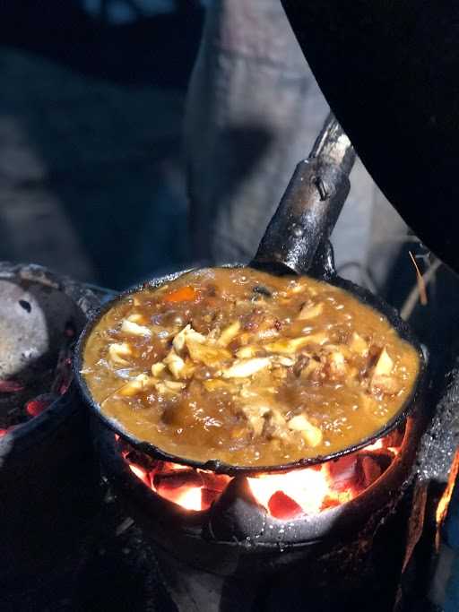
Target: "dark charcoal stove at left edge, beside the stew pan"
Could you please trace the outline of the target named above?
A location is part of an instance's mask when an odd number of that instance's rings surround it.
[[[78,548],[100,504],[70,347],[98,298],[35,265],[0,265],[0,608]],[[56,588],[56,585],[52,589]]]

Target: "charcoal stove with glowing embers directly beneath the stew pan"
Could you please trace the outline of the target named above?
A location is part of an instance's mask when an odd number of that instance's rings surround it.
[[[422,418],[409,418],[377,444],[318,469],[249,478],[154,461],[107,429],[98,444],[109,482],[159,547],[164,572],[178,573],[173,582],[182,588],[190,572],[200,576],[195,585],[212,584],[212,604],[191,608],[196,593],[187,603],[176,593],[181,608],[276,609],[273,601],[287,597],[334,609],[344,597],[351,609],[371,592],[374,609],[389,610],[403,545],[391,537],[387,592],[387,568],[385,580],[378,573],[389,551],[379,533],[397,522],[413,485],[422,428]]]

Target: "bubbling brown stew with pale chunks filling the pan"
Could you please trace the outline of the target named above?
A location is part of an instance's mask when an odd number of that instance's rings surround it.
[[[102,413],[164,453],[256,467],[358,444],[399,411],[419,368],[343,289],[212,268],[118,301],[82,375]]]

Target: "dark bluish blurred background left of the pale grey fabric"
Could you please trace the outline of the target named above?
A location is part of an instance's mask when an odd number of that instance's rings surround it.
[[[0,260],[114,289],[189,260],[198,0],[0,0]]]

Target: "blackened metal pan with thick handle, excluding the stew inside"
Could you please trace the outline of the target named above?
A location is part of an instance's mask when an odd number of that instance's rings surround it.
[[[295,273],[305,274],[318,280],[326,280],[328,283],[349,291],[360,302],[372,306],[378,312],[385,315],[394,326],[403,340],[407,340],[418,352],[420,358],[420,371],[410,397],[403,403],[397,414],[385,423],[373,435],[362,440],[359,444],[353,444],[341,451],[329,455],[319,455],[277,466],[238,466],[224,463],[222,461],[192,461],[184,457],[178,457],[161,451],[153,444],[140,440],[131,435],[115,418],[105,415],[100,409],[98,402],[94,401],[87,384],[81,375],[82,354],[86,340],[93,328],[100,322],[100,318],[126,295],[144,288],[158,288],[166,282],[175,280],[181,274],[189,270],[175,272],[159,279],[149,280],[143,285],[130,289],[108,302],[88,323],[82,332],[74,354],[74,375],[80,387],[84,401],[95,412],[98,418],[121,437],[125,438],[142,453],[159,457],[166,461],[181,463],[228,474],[239,472],[265,472],[281,471],[301,468],[321,461],[329,461],[346,453],[353,453],[359,448],[372,444],[377,438],[388,434],[397,427],[407,414],[415,408],[420,400],[422,382],[425,377],[426,363],[418,340],[411,332],[410,327],[397,315],[394,308],[385,304],[377,296],[371,294],[348,280],[337,276],[334,270],[333,249],[328,237],[338,219],[342,204],[349,193],[348,174],[354,160],[351,143],[342,134],[341,128],[336,124],[333,117],[328,119],[325,130],[319,136],[311,157],[301,161],[290,181],[290,185],[284,194],[279,209],[273,216],[264,237],[260,243],[255,259],[249,263],[251,267],[276,274]],[[244,264],[232,263],[228,267],[243,267]]]

